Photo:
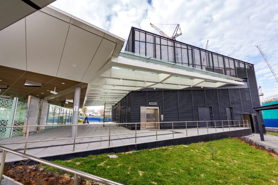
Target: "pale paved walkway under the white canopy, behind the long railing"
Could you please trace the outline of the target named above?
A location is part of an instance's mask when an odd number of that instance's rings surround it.
[[[229,130],[238,130],[244,129],[239,127],[231,127],[224,128],[224,132],[228,132]],[[173,138],[172,130],[158,130],[157,132],[157,140],[167,140]],[[196,136],[202,134],[207,134],[207,128],[193,128],[187,129],[187,136]],[[209,128],[208,133],[215,132],[223,132],[222,128]],[[81,124],[78,126],[78,137],[85,136],[97,136],[97,137],[88,137],[88,138],[77,138],[75,145],[75,152],[87,151],[87,150],[95,150],[101,148],[107,148],[109,145],[109,136],[100,136],[100,135],[108,135],[109,134],[109,126],[103,127],[103,125],[95,125],[95,124]],[[116,135],[113,134],[123,134]],[[46,130],[45,132],[30,135],[28,137],[28,141],[42,141],[42,140],[53,140],[60,138],[70,138],[71,135],[71,126],[63,126],[58,127],[51,130]],[[186,137],[186,130],[174,130],[174,138],[183,138]],[[123,146],[130,145],[135,143],[135,130],[128,130],[122,126],[111,125],[111,137],[110,137],[110,146]],[[15,142],[25,142],[26,137],[16,136],[13,138],[7,138],[0,140],[0,145],[11,148],[13,150],[17,150],[19,152],[24,152],[25,144],[8,144],[3,145],[4,143],[15,143]],[[156,140],[156,132],[155,130],[137,130],[137,143],[145,143]],[[42,142],[34,142],[27,144],[26,154],[35,156],[35,157],[46,157],[53,156],[59,154],[69,154],[73,152],[73,139],[67,140],[56,140],[56,141],[42,141]],[[2,152],[0,153],[2,155]],[[20,156],[7,153],[6,162],[18,161],[22,160]]]

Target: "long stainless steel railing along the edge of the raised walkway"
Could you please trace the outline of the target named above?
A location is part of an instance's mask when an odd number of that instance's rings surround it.
[[[188,123],[192,123],[192,122],[197,122],[197,128],[187,128],[187,124]],[[199,127],[198,123],[200,122],[206,122],[206,127]],[[214,122],[214,126],[209,127],[208,126],[208,122]],[[221,123],[220,126],[216,126],[216,122],[217,123]],[[223,122],[227,122],[227,125],[224,125]],[[150,124],[150,123],[154,123],[156,125],[155,131],[148,131],[148,132],[137,132],[137,125],[138,124],[145,124],[146,127],[146,123]],[[166,129],[166,130],[157,130],[157,124],[158,123],[170,123],[170,125],[172,126],[172,129]],[[174,129],[174,123],[185,123],[185,128],[182,129]],[[230,123],[232,123],[232,125],[230,125]],[[238,124],[236,124],[238,123]],[[133,124],[135,125],[135,133],[131,132],[131,133],[124,133],[124,134],[111,134],[111,125],[124,125],[124,124]],[[83,137],[77,137],[76,136],[76,130],[78,126],[95,126],[95,125],[109,125],[109,134],[106,135],[97,135],[97,136],[83,136]],[[48,125],[45,126],[40,126],[40,127],[47,127]],[[73,138],[60,138],[60,139],[50,139],[50,140],[35,140],[35,141],[28,141],[28,135],[26,134],[26,140],[25,142],[12,142],[12,143],[0,143],[0,145],[8,145],[8,144],[25,144],[24,145],[24,154],[26,153],[26,148],[27,148],[27,144],[28,143],[35,143],[35,142],[47,142],[47,141],[58,141],[58,140],[72,140],[73,139],[73,151],[75,151],[75,140],[76,139],[82,139],[82,138],[94,138],[94,137],[108,137],[108,146],[110,146],[110,141],[111,141],[111,136],[120,136],[120,135],[127,135],[127,134],[134,134],[135,135],[135,143],[137,143],[137,134],[144,134],[144,133],[156,133],[156,140],[158,140],[157,138],[157,133],[158,132],[172,132],[173,134],[173,138],[174,138],[174,130],[186,130],[186,136],[188,136],[187,131],[188,130],[193,130],[193,129],[197,129],[197,135],[199,135],[199,129],[207,129],[207,133],[208,133],[208,129],[209,128],[215,128],[215,132],[217,132],[217,128],[222,128],[222,131],[224,132],[224,128],[228,127],[229,130],[231,129],[231,126],[234,127],[234,130],[236,130],[236,126],[239,126],[239,129],[242,128],[249,128],[248,127],[248,121],[247,120],[214,120],[214,121],[182,121],[182,122],[145,122],[145,123],[94,123],[94,124],[72,124],[72,125],[60,125],[60,126],[74,126],[75,127],[75,136]],[[29,133],[30,131],[30,127],[37,127],[35,126],[3,126],[0,128],[17,128],[17,127],[27,127],[27,133]],[[146,136],[148,137],[148,136]]]

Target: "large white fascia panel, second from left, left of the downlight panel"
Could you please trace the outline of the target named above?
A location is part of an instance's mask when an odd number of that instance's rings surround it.
[[[57,75],[68,27],[41,11],[26,17],[27,71]]]

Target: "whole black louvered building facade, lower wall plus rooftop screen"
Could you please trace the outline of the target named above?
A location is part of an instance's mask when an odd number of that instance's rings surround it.
[[[163,115],[164,118],[160,122],[199,121],[199,106],[211,107],[212,120],[227,120],[226,108],[230,107],[233,110],[234,120],[242,120],[242,114],[253,114],[255,131],[259,133],[257,117],[253,110],[254,107],[260,106],[253,64],[134,27],[130,31],[125,50],[239,77],[246,80],[247,87],[238,88],[226,85],[214,89],[192,87],[184,90],[143,89],[142,91],[132,91],[119,102],[118,108],[112,110],[112,121],[127,123],[127,128],[135,128],[135,125],[131,123],[140,122],[140,106],[150,106],[149,102],[156,102],[155,107],[160,108],[160,115]],[[261,120],[265,132],[263,119]],[[216,122],[216,125],[220,124],[221,122]],[[224,124],[227,125],[227,122]],[[197,122],[188,123],[187,126],[196,127]],[[171,123],[160,124],[161,129],[169,127],[171,127]],[[174,127],[184,128],[185,123],[174,123]]]

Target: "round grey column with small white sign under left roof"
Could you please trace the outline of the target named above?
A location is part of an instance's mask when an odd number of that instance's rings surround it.
[[[78,123],[79,102],[80,102],[81,87],[75,87],[74,100],[73,100],[73,121],[71,124]],[[75,133],[76,132],[76,133]],[[77,136],[77,128],[71,127],[71,137]]]

